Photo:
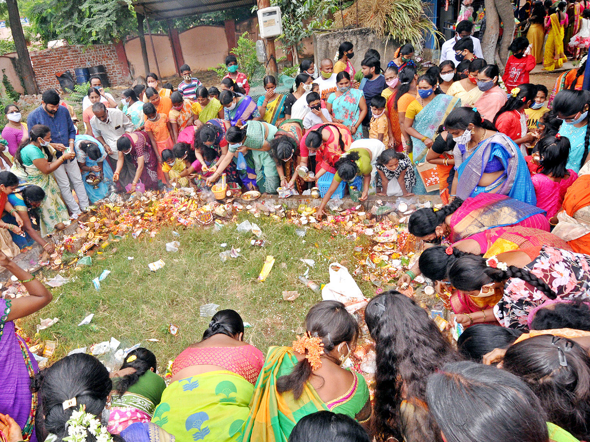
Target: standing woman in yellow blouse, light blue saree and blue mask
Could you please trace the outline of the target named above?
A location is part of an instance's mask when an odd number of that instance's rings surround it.
[[[418,98],[408,105],[404,118],[404,127],[411,136],[411,153],[415,174],[418,175],[417,164],[424,161],[428,149],[434,142],[434,134],[441,124],[444,124],[448,114],[461,105],[461,100],[451,95],[442,94],[437,87],[437,81],[431,75],[418,78]],[[425,194],[426,189],[422,180],[417,180],[413,192]],[[432,194],[436,193],[432,192]]]

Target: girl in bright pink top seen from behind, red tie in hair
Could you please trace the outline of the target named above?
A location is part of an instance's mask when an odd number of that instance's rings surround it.
[[[569,139],[559,134],[543,137],[539,147],[539,173],[532,177],[537,207],[547,212],[547,218],[557,215],[566,190],[578,178],[572,169],[566,169],[569,156]]]

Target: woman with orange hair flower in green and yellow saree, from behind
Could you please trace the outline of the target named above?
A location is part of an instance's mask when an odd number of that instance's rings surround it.
[[[341,367],[359,335],[345,305],[322,301],[305,319],[293,347],[271,347],[255,385],[243,442],[286,442],[297,422],[320,410],[366,424],[371,401],[365,379]]]

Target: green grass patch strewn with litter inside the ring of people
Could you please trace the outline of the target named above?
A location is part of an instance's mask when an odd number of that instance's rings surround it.
[[[270,345],[289,344],[296,329],[310,307],[321,301],[321,295],[304,287],[297,280],[306,270],[300,258],[314,259],[309,278],[328,282],[327,267],[330,262],[349,260],[354,262],[353,247],[358,245],[345,236],[307,229],[307,235],[295,235],[296,226],[283,220],[271,220],[266,216],[255,222],[267,240],[264,248],[250,245],[251,233],[239,234],[235,223],[228,223],[218,232],[212,227],[195,227],[178,230],[180,238],[172,235],[171,228],[163,229],[155,238],[130,235],[113,243],[102,255],[93,256],[91,267],[70,271],[76,279],[54,289],[54,300],[35,315],[21,320],[19,325],[28,336],[35,332],[39,319],[60,318],[60,322],[42,330],[34,341],[50,339],[58,342],[52,360],[63,357],[78,347],[89,347],[95,342],[108,341],[111,337],[121,341],[121,348],[141,342],[158,358],[160,372],[169,359],[183,349],[199,341],[211,318],[202,318],[199,306],[219,304],[219,309],[231,308],[240,312],[245,322],[253,327],[245,331],[245,340],[266,351]],[[165,243],[179,240],[180,250],[166,252]],[[221,243],[241,248],[241,256],[221,262],[219,253],[225,250]],[[266,282],[256,279],[267,255],[276,259]],[[127,256],[135,257],[128,260]],[[166,266],[150,272],[148,263],[163,259]],[[348,265],[354,270],[352,263]],[[108,269],[111,271],[96,291],[92,279]],[[53,276],[53,275],[47,275]],[[375,287],[359,283],[366,296],[373,296]],[[297,290],[301,295],[295,301],[283,301],[281,292]],[[90,325],[77,324],[94,313]],[[168,331],[172,323],[180,328],[174,337]],[[148,342],[155,338],[160,342]]]

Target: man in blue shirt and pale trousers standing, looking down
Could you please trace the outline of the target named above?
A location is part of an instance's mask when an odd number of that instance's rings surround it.
[[[45,91],[41,98],[41,105],[29,114],[27,126],[32,128],[35,124],[44,124],[50,128],[51,146],[56,150],[57,158],[63,155],[62,152],[65,149],[70,149],[74,153],[76,127],[67,107],[60,105],[60,95],[55,89]],[[84,189],[80,166],[78,166],[76,159],[65,160],[53,172],[53,177],[60,187],[61,196],[70,209],[72,217],[76,219],[81,210],[87,210],[90,205],[86,189]],[[76,190],[79,205],[70,190],[70,181]]]

